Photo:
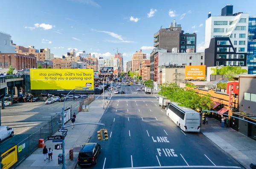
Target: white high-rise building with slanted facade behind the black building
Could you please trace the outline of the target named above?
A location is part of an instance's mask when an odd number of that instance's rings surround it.
[[[220,16],[211,16],[205,21],[205,48],[213,37],[230,37],[236,52],[247,52],[249,14],[233,14],[233,6],[227,5]],[[220,45],[220,44],[218,44]]]

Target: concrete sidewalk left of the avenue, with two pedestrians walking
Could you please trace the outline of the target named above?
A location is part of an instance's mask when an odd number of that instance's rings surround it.
[[[101,119],[105,109],[102,109],[102,99],[94,100],[89,105],[88,112],[79,112],[76,115],[75,123],[98,123]],[[106,107],[108,106],[107,103]],[[71,121],[68,122],[65,126],[71,125]],[[74,129],[68,127],[67,136],[65,138],[65,163],[67,169],[74,169],[77,164],[77,157],[81,146],[84,143],[88,143],[90,141],[91,135],[95,134],[96,131],[94,129],[96,125],[78,125],[75,126]],[[61,135],[60,132],[56,132],[54,135]],[[51,140],[47,140],[44,145],[49,149],[51,147],[52,151],[52,161],[48,162],[48,160],[44,161],[43,148],[38,148],[35,152],[32,153],[26,160],[24,160],[17,169],[61,169],[62,165],[58,165],[58,154],[62,154],[62,150],[55,150],[54,145],[59,143],[52,143]],[[74,158],[73,161],[69,159],[69,150],[74,149]]]

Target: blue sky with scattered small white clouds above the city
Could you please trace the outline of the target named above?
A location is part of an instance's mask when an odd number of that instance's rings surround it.
[[[256,0],[1,0],[0,31],[57,57],[73,48],[108,58],[118,48],[126,62],[141,48],[150,54],[154,33],[174,19],[185,32],[197,32],[202,50],[208,12],[219,15],[227,4],[256,15]]]

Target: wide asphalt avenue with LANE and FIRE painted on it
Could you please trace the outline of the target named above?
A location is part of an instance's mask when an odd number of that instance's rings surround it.
[[[157,98],[138,87],[122,85],[125,94],[111,97],[100,121],[109,140],[99,141],[95,131],[90,142],[101,144],[102,152],[88,168],[243,168],[203,134],[181,131]]]

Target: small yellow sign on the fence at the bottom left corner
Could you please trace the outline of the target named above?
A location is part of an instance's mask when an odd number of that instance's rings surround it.
[[[17,145],[13,146],[6,152],[2,153],[1,157],[3,158],[3,169],[9,169],[13,166],[17,161]]]

